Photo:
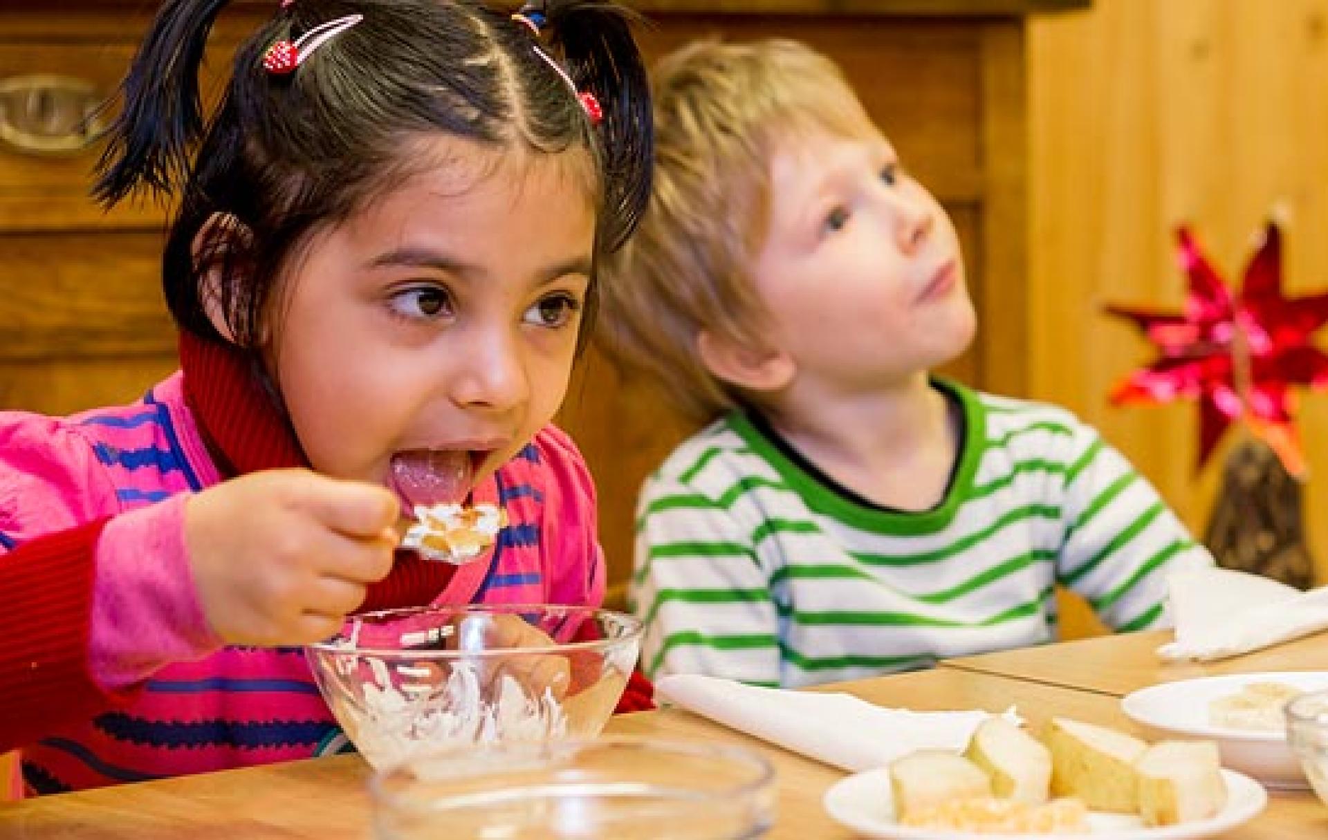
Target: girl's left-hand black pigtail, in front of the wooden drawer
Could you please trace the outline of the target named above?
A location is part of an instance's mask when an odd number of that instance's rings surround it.
[[[166,0],[121,84],[124,107],[97,162],[93,196],[110,207],[143,186],[169,195],[203,133],[198,70],[227,0]]]

